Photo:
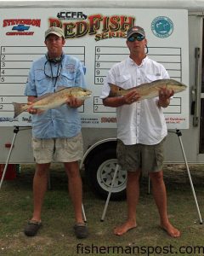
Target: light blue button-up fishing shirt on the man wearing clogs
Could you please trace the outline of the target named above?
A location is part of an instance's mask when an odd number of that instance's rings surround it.
[[[86,87],[82,63],[77,58],[63,55],[61,65],[49,62],[46,56],[33,62],[26,83],[26,96],[42,96],[54,92],[59,86]],[[32,115],[33,137],[75,137],[80,131],[81,118],[77,108],[66,104]]]

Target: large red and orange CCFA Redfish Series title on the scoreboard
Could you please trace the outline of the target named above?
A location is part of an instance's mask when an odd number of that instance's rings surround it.
[[[69,12],[66,12],[67,15]],[[69,15],[79,15],[81,12],[70,12]],[[66,15],[60,14],[59,15]],[[83,14],[81,14],[83,15]],[[77,19],[77,18],[76,18]],[[65,32],[65,38],[82,38],[86,35],[95,36],[95,40],[108,38],[126,38],[127,29],[134,26],[135,18],[127,15],[88,15],[86,20],[65,20],[49,18],[49,26],[59,26]]]

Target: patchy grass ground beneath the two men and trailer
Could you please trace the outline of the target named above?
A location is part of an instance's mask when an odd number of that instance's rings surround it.
[[[204,172],[203,166],[199,168],[190,166],[190,173],[201,215],[204,215]],[[199,224],[184,166],[166,166],[164,171],[168,215],[182,232],[178,239],[167,236],[160,229],[154,200],[151,194],[147,195],[147,181],[143,180],[137,210],[138,228],[122,237],[114,236],[112,230],[127,216],[126,201],[111,201],[105,221],[100,222],[105,201],[94,195],[84,182],[83,205],[90,236],[77,240],[72,230],[74,215],[67,180],[60,165],[52,166],[52,189],[48,190],[44,200],[42,230],[36,237],[26,237],[23,229],[31,218],[33,173],[34,166],[21,166],[17,178],[3,182],[0,190],[0,255],[204,255],[204,225]],[[84,173],[82,177],[84,179]]]

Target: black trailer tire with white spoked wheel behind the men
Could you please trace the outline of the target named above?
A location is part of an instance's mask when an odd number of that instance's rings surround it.
[[[92,154],[88,160],[86,176],[91,189],[106,199],[111,189],[111,182],[116,170],[116,148],[105,148]],[[127,172],[119,167],[116,181],[112,189],[111,200],[123,200],[126,197]]]

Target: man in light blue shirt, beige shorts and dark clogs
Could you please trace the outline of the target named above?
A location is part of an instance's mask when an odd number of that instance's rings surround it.
[[[28,102],[37,97],[53,93],[60,86],[85,87],[82,63],[71,55],[65,55],[65,35],[59,27],[50,27],[45,32],[48,52],[34,61],[26,83],[25,95]],[[42,202],[48,184],[48,169],[53,160],[63,162],[68,176],[69,193],[74,205],[77,238],[88,236],[82,218],[82,179],[78,160],[82,160],[81,119],[77,108],[83,101],[69,97],[67,104],[46,112],[29,108],[32,114],[32,147],[36,160],[33,179],[34,211],[26,226],[26,236],[35,236],[42,226]]]

